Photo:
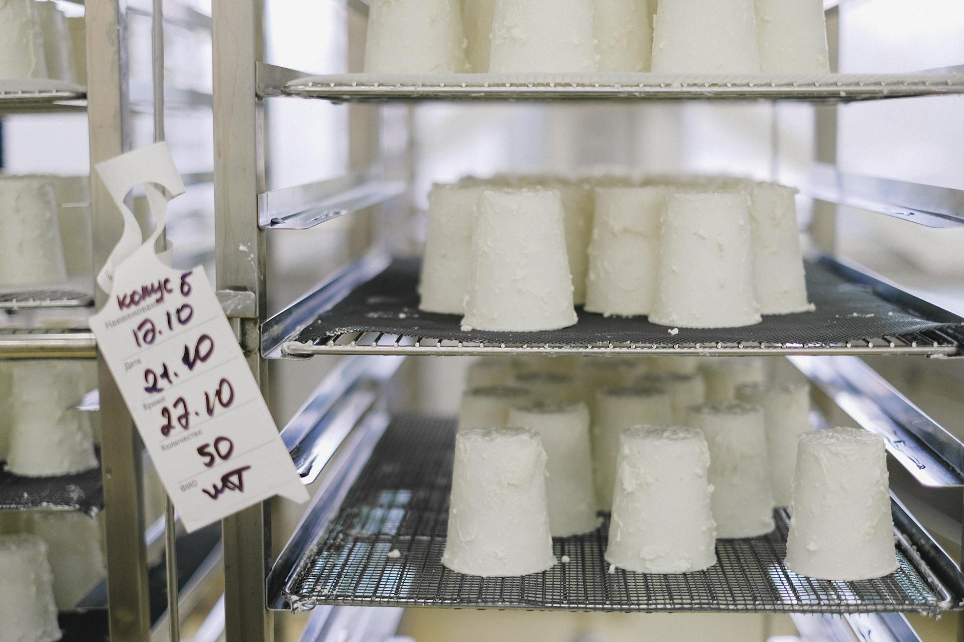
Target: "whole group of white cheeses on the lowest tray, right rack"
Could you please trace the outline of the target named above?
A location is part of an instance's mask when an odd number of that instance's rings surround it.
[[[892,573],[883,441],[810,430],[793,372],[782,357],[475,362],[469,382],[485,387],[463,402],[442,563],[539,573],[571,561],[551,538],[594,536],[609,512],[608,572],[693,573],[717,563],[717,538],[762,537],[790,504],[790,570]]]

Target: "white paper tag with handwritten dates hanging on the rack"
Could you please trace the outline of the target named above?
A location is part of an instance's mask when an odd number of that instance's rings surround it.
[[[95,167],[121,209],[145,184],[157,227],[112,270],[110,297],[91,318],[150,458],[187,530],[281,495],[308,491],[281,442],[234,332],[203,268],[174,270],[154,254],[167,199],[183,193],[167,145],[157,143]],[[129,213],[129,212],[128,212]],[[127,227],[133,216],[125,218]],[[140,241],[140,238],[138,238]]]

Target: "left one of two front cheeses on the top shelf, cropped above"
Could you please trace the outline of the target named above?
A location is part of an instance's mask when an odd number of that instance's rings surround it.
[[[491,73],[596,71],[593,0],[495,0]]]

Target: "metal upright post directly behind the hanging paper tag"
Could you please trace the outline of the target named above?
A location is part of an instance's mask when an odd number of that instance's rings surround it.
[[[88,121],[91,166],[130,147],[127,95],[127,42],[124,0],[86,3]],[[94,266],[104,264],[120,239],[122,220],[110,194],[91,181],[94,213]],[[106,293],[96,292],[100,307]],[[107,539],[107,599],[111,639],[147,642],[147,548],[141,477],[143,446],[114,378],[98,358],[100,447]]]

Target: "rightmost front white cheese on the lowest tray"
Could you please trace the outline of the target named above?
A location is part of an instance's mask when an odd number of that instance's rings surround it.
[[[883,437],[857,428],[802,435],[790,512],[790,571],[850,581],[897,570]]]

